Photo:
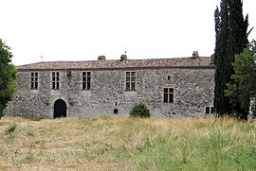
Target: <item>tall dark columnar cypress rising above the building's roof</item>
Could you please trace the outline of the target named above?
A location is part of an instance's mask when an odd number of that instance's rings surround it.
[[[215,90],[214,108],[216,113],[243,113],[240,103],[230,104],[229,97],[225,96],[226,84],[234,74],[232,62],[234,55],[239,54],[247,46],[247,17],[244,19],[243,2],[241,0],[222,0],[220,10],[215,10],[216,44],[214,62]]]

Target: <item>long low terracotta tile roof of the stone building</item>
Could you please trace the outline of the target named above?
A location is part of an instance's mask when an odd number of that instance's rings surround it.
[[[134,69],[134,68],[214,68],[210,57],[155,60],[87,60],[44,61],[20,65],[18,70],[69,70],[69,69]]]

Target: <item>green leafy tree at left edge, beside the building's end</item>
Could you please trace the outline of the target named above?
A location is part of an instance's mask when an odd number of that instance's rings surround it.
[[[0,39],[0,119],[16,89],[16,69],[10,63],[12,55],[9,50],[9,46]]]

